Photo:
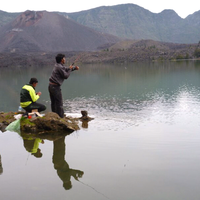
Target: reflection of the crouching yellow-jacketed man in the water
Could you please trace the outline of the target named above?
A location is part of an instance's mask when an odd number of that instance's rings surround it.
[[[36,158],[41,158],[42,153],[41,150],[39,149],[39,144],[42,143],[44,144],[44,140],[40,138],[32,138],[32,137],[23,137],[24,141],[24,147],[25,149],[31,153],[31,155],[34,155]]]

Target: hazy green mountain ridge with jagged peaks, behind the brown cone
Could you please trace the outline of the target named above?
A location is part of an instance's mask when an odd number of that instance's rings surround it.
[[[121,38],[173,43],[199,42],[200,11],[182,19],[173,10],[156,14],[135,4],[122,4],[60,14],[94,30]]]

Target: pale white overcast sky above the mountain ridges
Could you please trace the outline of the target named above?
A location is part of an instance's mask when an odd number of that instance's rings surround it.
[[[0,4],[0,10],[5,12],[24,12],[26,10],[34,11],[59,11],[59,12],[79,12],[89,10],[100,6],[113,6],[119,4],[132,3],[143,7],[153,13],[160,13],[165,9],[174,10],[180,17],[186,18],[188,15],[193,14],[200,10],[200,1],[190,0],[3,0]]]

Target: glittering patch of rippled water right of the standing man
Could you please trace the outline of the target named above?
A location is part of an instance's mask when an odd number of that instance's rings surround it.
[[[176,124],[184,117],[189,123],[194,115],[200,115],[200,95],[196,88],[182,86],[171,93],[159,90],[141,98],[109,95],[75,98],[73,102],[65,100],[64,106],[71,113],[87,110],[101,125],[123,129],[146,122]]]

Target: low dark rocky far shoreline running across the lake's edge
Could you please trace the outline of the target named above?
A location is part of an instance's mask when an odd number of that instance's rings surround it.
[[[0,67],[44,66],[55,62],[55,55],[60,52],[1,52]],[[133,63],[157,61],[198,61],[200,60],[199,44],[173,44],[152,40],[140,40],[124,45],[124,41],[93,52],[62,52],[67,64],[73,62],[94,63]]]

